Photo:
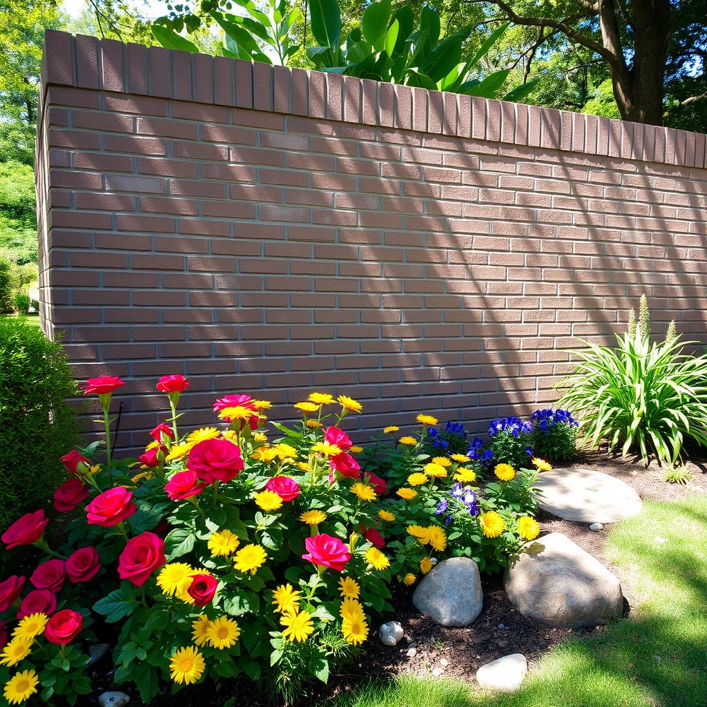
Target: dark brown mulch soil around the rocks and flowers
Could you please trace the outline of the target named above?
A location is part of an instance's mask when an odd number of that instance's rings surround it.
[[[685,486],[668,484],[665,481],[665,468],[655,462],[646,468],[636,460],[610,457],[606,450],[583,452],[573,465],[597,469],[618,477],[633,486],[641,498],[677,501],[695,493],[707,493],[707,460],[698,456],[685,465],[693,475]],[[604,549],[606,528],[595,532],[585,523],[561,520],[547,513],[540,513],[538,520],[542,526],[542,534],[566,534],[620,575],[619,568],[609,563]],[[411,590],[399,588],[392,601],[396,607],[395,614],[380,617],[376,624],[380,625],[390,619],[399,621],[405,631],[402,641],[395,648],[390,648],[382,645],[375,634],[370,636],[372,640],[366,643],[366,649],[361,651],[356,660],[342,666],[339,674],[332,674],[327,686],[312,684],[309,693],[296,707],[329,703],[342,692],[354,689],[356,685],[367,682],[371,677],[391,679],[400,674],[433,674],[473,682],[474,673],[481,665],[503,655],[522,653],[532,667],[552,645],[568,636],[586,636],[603,630],[602,627],[573,630],[545,626],[539,621],[523,617],[510,604],[503,591],[501,575],[484,577],[481,584],[484,590],[484,609],[474,624],[460,629],[445,629],[431,619],[423,617],[412,605]],[[625,584],[624,595],[627,599],[627,610],[630,610],[631,588]],[[106,686],[105,689],[112,688]],[[274,696],[254,693],[252,683],[239,685],[226,682],[216,691],[214,685],[204,684],[182,690],[175,697],[160,696],[152,705],[201,707],[204,704],[223,704],[229,697],[235,699],[234,705],[279,707],[282,704]],[[130,703],[131,707],[139,704],[139,699]]]

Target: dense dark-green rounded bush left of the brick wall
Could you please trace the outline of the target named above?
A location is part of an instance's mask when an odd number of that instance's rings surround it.
[[[76,438],[64,402],[76,383],[62,345],[38,327],[0,319],[0,529],[51,496]]]

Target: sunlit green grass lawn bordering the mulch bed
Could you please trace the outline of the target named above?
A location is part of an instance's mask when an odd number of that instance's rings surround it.
[[[656,537],[666,542],[656,542]],[[707,704],[707,497],[644,501],[609,535],[630,617],[556,645],[510,696],[462,682],[372,683],[336,707],[699,707]]]

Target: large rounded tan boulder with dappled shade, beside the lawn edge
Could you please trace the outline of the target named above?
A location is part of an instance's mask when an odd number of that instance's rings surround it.
[[[508,568],[506,593],[524,616],[549,626],[595,626],[621,615],[614,575],[559,532],[528,543]]]

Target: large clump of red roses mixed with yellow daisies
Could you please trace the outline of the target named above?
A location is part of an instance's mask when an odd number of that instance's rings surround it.
[[[286,701],[310,677],[326,682],[368,639],[373,614],[392,608],[378,530],[386,484],[361,472],[340,426],[361,404],[312,393],[296,404],[303,420],[274,424],[274,435],[269,402],[226,395],[218,426],[182,431],[189,382],[165,376],[157,390],[171,415],[145,434],[138,460],[116,460],[110,407],[123,385],[86,383],[105,448],[65,455],[52,514],[33,510],[1,536],[36,567],[0,582],[6,701],[88,693],[94,629],[117,636],[115,683],[145,702],[206,679],[264,679]],[[64,514],[64,541],[48,542]]]

